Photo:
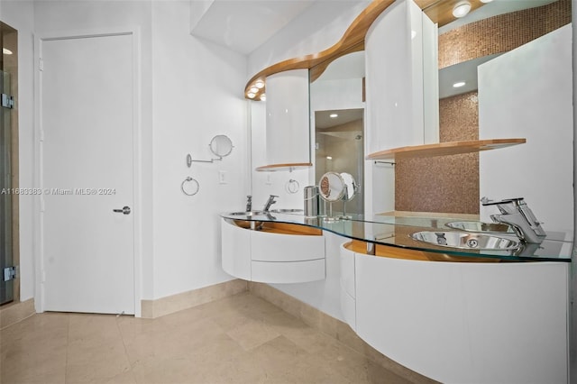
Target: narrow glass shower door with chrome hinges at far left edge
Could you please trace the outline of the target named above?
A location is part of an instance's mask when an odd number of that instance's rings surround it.
[[[6,105],[6,96],[11,93],[10,86],[10,74],[0,71],[0,94],[3,98],[0,106],[0,305],[14,299],[14,280],[6,270],[13,266],[12,109]]]

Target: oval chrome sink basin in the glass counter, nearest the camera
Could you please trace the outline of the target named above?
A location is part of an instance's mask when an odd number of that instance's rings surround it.
[[[519,247],[515,240],[483,233],[423,231],[410,236],[419,242],[462,250],[506,251]]]

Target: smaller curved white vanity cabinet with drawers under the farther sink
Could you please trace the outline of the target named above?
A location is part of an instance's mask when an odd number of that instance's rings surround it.
[[[307,233],[307,227],[298,227],[303,231],[252,231],[223,220],[223,270],[262,283],[325,279],[325,237],[319,230]]]

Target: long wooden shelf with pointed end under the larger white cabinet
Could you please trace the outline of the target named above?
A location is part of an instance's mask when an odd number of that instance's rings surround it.
[[[394,148],[369,154],[366,160],[398,160],[434,156],[459,155],[479,151],[496,150],[512,145],[524,144],[526,139],[491,139],[467,142],[438,142],[435,144],[415,145]]]

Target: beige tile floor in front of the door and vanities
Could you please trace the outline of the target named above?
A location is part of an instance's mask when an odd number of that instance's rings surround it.
[[[153,320],[33,315],[0,352],[5,384],[408,382],[249,292]]]

